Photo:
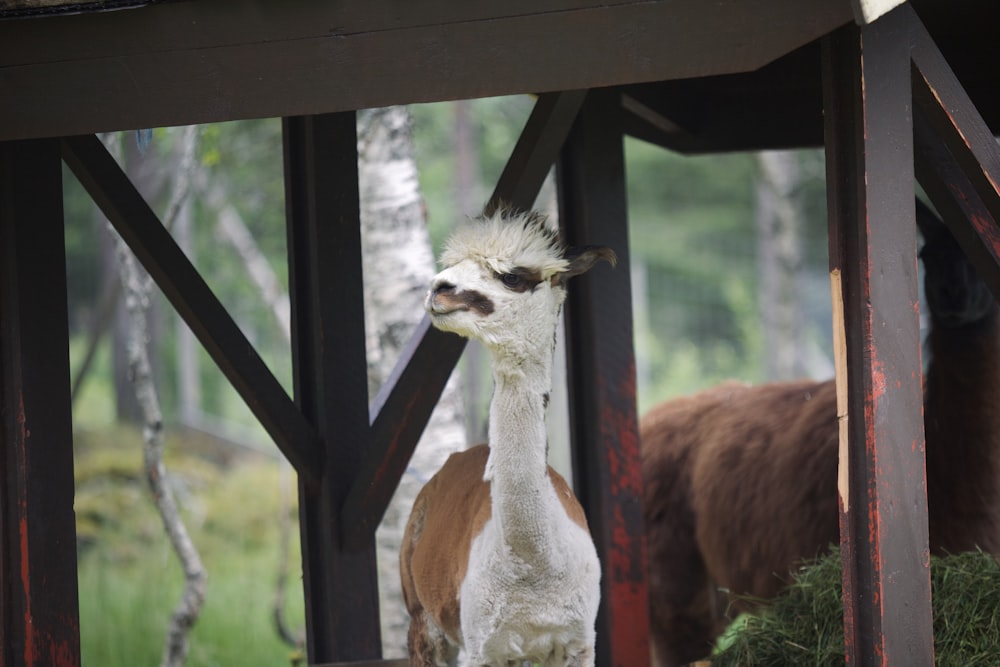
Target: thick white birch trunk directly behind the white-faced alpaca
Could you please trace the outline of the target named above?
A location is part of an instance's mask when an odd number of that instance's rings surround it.
[[[409,110],[397,106],[360,111],[358,155],[371,398],[424,315],[424,293],[435,269],[417,181]],[[376,533],[382,643],[387,658],[406,656],[409,621],[398,565],[413,499],[448,455],[464,447],[465,426],[456,374],[445,387]]]

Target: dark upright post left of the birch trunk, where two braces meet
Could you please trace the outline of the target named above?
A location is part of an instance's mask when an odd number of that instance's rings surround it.
[[[355,122],[283,126],[295,401],[325,453],[319,481],[299,484],[310,663],[381,655],[375,535],[347,549],[339,522],[370,440]]]

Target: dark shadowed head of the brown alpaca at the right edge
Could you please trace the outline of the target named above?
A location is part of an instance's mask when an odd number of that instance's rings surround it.
[[[997,310],[990,288],[976,273],[948,227],[917,200],[917,226],[924,238],[924,294],[938,326],[957,328],[984,321]]]

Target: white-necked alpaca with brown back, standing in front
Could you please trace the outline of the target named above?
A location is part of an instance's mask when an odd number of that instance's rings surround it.
[[[449,240],[425,307],[493,362],[489,446],[453,454],[417,496],[400,551],[410,664],[594,664],[600,564],[583,510],[546,463],[545,408],[569,251],[538,214],[501,211]],[[461,650],[461,651],[460,651]]]

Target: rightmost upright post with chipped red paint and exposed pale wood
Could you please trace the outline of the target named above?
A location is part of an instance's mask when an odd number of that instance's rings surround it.
[[[908,27],[896,10],[824,44],[849,665],[934,664]]]

